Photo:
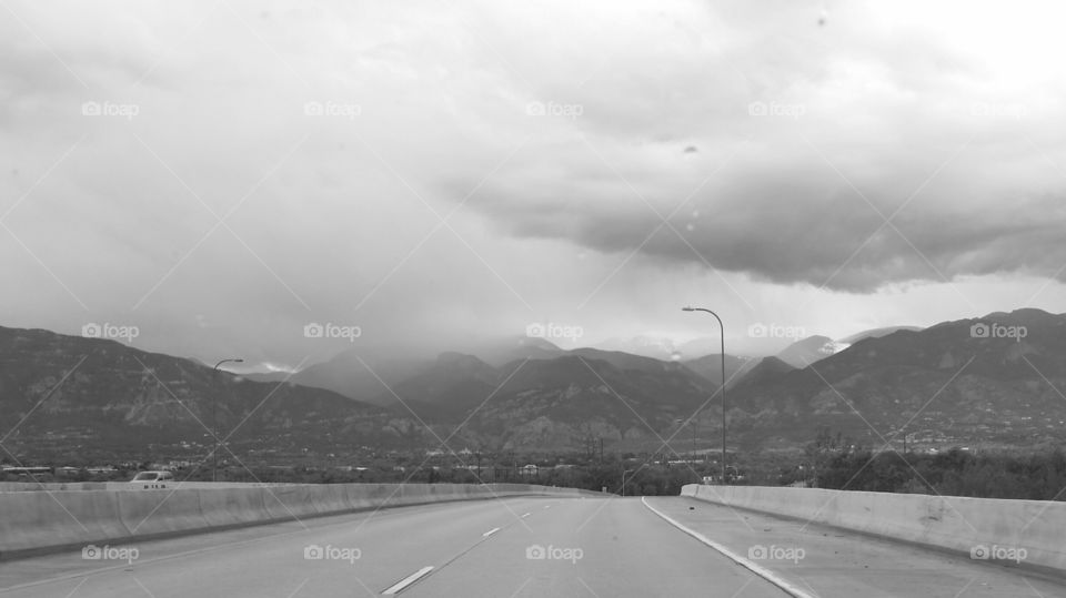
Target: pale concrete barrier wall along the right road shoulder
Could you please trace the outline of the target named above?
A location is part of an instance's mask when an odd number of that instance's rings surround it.
[[[682,496],[1066,572],[1066,503],[695,484]]]

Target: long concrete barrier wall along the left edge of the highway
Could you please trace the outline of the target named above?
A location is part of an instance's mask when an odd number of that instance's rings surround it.
[[[0,491],[0,560],[255,524],[449,500],[600,496],[525,484],[233,485],[129,491]]]

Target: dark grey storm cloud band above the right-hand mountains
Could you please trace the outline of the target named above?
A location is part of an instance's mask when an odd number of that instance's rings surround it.
[[[725,174],[727,183],[698,192],[667,219],[668,225],[663,219],[680,203],[677,196],[673,203],[644,203],[627,189],[596,197],[552,181],[535,192],[486,192],[472,203],[514,235],[565,239],[611,253],[640,247],[665,263],[706,264],[775,283],[872,292],[959,275],[1062,276],[1062,195],[967,196],[966,185],[955,191],[929,182],[932,190],[904,203],[904,194],[856,191],[896,182],[848,183],[825,164],[807,168]],[[994,170],[992,164],[969,168],[975,170],[955,176],[979,178],[980,168]]]

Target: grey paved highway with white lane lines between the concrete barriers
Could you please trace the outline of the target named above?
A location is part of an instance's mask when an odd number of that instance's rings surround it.
[[[97,548],[0,564],[0,597],[788,596],[766,577],[821,597],[1066,596],[1017,568],[682,497],[446,503]]]

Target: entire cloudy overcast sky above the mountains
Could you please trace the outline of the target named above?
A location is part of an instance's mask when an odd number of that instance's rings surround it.
[[[1066,312],[1056,2],[59,6],[0,1],[0,325],[294,367]]]

